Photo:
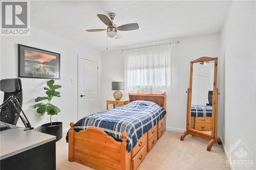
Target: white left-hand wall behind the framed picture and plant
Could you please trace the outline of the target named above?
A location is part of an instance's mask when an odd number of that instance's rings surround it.
[[[53,120],[55,121],[57,118],[58,121],[63,122],[63,129],[68,128],[70,122],[77,121],[77,55],[98,59],[99,66],[101,66],[101,53],[67,39],[31,28],[30,36],[1,37],[1,79],[17,78],[18,76],[17,43],[60,53],[60,80],[55,80],[55,82],[62,85],[61,97],[53,99],[53,104],[56,104],[61,112],[54,115]],[[70,83],[70,79],[74,79],[74,84]],[[99,80],[101,80],[100,67]],[[33,109],[34,99],[37,96],[46,95],[44,90],[46,81],[47,79],[22,78],[23,110],[33,127],[39,127],[50,122],[49,115],[41,116]],[[1,94],[2,101],[3,93]],[[21,122],[18,125],[23,126]]]

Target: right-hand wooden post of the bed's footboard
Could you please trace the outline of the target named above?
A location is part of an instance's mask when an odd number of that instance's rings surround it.
[[[126,154],[126,145],[127,145],[127,133],[123,132],[122,133],[122,143],[121,143],[121,147],[120,147],[120,162],[121,162],[121,169],[122,170],[126,170],[128,169],[127,164],[129,164],[128,162],[126,162],[126,159],[128,157],[128,155]]]

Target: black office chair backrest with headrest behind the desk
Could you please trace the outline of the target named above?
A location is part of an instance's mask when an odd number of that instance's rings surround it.
[[[3,79],[0,81],[0,89],[4,92],[4,102],[13,95],[18,100],[19,105],[22,106],[22,81],[20,79]],[[17,113],[12,103],[9,102],[1,109],[0,120],[8,124],[16,125],[18,120],[16,116],[20,113],[19,108],[18,111]]]

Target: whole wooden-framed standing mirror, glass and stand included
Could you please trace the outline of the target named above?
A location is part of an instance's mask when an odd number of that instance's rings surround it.
[[[187,89],[186,131],[181,135],[209,140],[207,151],[221,140],[217,137],[218,120],[218,58],[201,57],[190,61],[190,79]]]

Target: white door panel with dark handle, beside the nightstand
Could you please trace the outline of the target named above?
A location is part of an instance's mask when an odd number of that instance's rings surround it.
[[[78,58],[78,120],[98,109],[98,62]]]

